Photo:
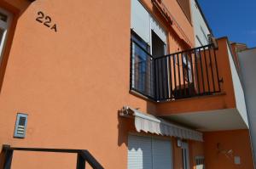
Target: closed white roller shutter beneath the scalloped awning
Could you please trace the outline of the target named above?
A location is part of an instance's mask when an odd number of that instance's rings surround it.
[[[128,169],[172,169],[171,141],[129,135]]]

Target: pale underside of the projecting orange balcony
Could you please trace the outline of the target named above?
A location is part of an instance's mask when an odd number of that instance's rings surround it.
[[[237,109],[209,110],[161,116],[201,132],[247,129]]]

